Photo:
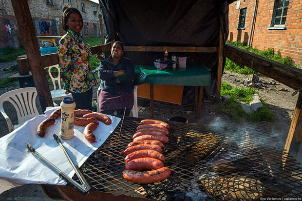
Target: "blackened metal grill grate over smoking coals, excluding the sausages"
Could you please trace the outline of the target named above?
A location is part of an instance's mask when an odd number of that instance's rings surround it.
[[[302,195],[301,167],[290,156],[284,157],[283,147],[265,129],[265,123],[206,126],[169,122],[170,141],[163,154],[170,177],[152,184],[126,181],[122,177],[125,156],[120,152],[132,141],[140,120],[125,118],[120,140],[121,122],[82,165],[94,190],[115,195],[135,190],[147,192],[155,200],[181,193],[183,198],[193,189],[222,200]],[[287,166],[283,169],[284,160]]]

